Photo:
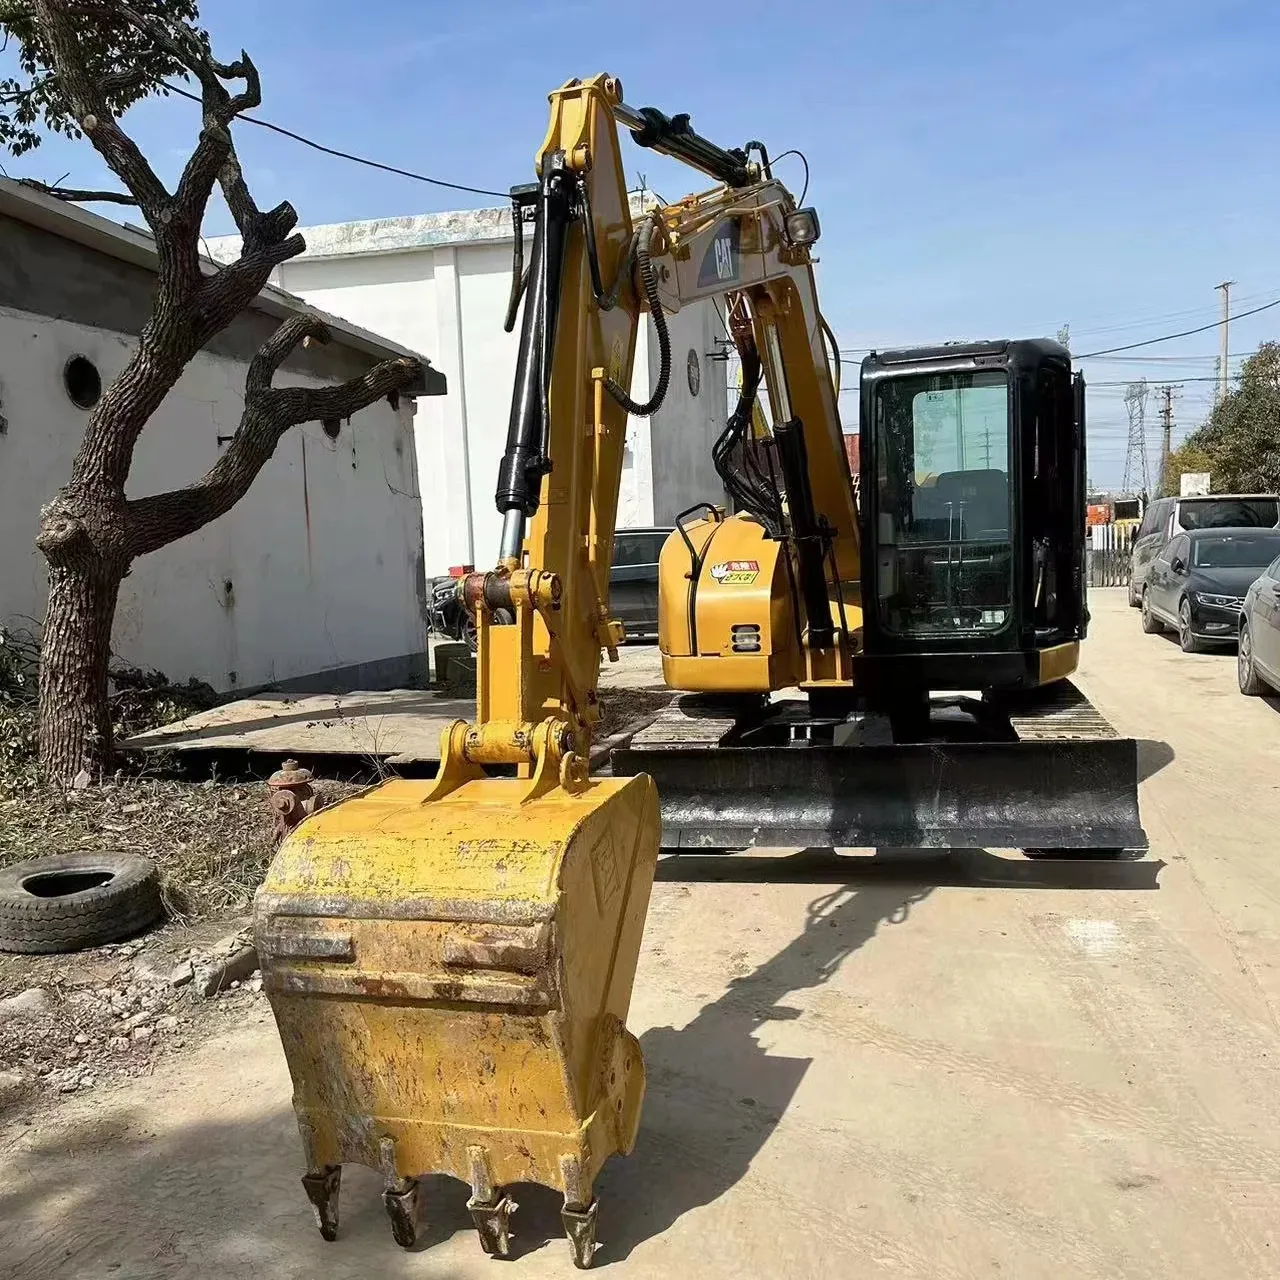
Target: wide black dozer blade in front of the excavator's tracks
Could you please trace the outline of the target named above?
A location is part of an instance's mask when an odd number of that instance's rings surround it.
[[[623,748],[612,764],[657,782],[664,849],[1148,847],[1134,739]]]

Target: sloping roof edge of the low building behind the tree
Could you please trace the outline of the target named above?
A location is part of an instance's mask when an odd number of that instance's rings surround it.
[[[125,227],[114,223],[109,218],[72,205],[63,200],[55,200],[41,191],[27,187],[10,178],[0,178],[0,216],[8,216],[19,223],[40,228],[54,236],[73,241],[86,248],[95,250],[108,257],[118,259],[122,262],[132,262],[147,270],[156,270],[157,255],[155,241],[150,232],[137,227]],[[223,237],[221,239],[230,239]],[[238,237],[234,237],[238,244]],[[238,252],[238,250],[237,250]],[[201,269],[206,275],[211,275],[219,269],[219,261],[237,256],[236,252],[227,256],[202,256]],[[314,315],[328,326],[334,342],[375,360],[396,360],[397,357],[412,357],[422,365],[424,376],[416,388],[410,388],[408,394],[417,396],[443,396],[444,375],[431,367],[431,362],[416,351],[402,347],[398,342],[379,337],[367,329],[353,325],[349,320],[329,315],[319,307],[314,307],[302,298],[296,297],[274,284],[266,285],[252,303],[252,308],[261,311],[279,320],[292,315]]]

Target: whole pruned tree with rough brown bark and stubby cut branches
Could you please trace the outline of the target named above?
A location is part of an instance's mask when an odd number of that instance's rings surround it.
[[[163,59],[198,84],[198,142],[169,191],[111,111],[120,76],[95,74],[93,23],[124,22]],[[49,564],[49,609],[40,673],[40,755],[47,776],[69,781],[95,773],[111,755],[108,660],[120,582],[132,562],[186,538],[230,511],[275,451],[301,422],[347,417],[420,375],[417,361],[392,360],[339,387],[276,387],[280,365],[300,343],[326,342],[315,317],[294,316],[253,357],[244,413],[227,451],[186,489],[125,498],[125,481],[142,430],[196,353],[239,315],[271,271],[306,247],[289,204],[260,210],[250,195],[230,127],[261,101],[257,69],[241,52],[220,63],[189,23],[108,0],[31,0],[31,20],[47,50],[49,70],[69,118],[124,186],[118,198],[137,205],[155,237],[157,287],[137,349],[99,401],[68,483],[41,512],[36,545]],[[239,92],[229,86],[243,84]],[[220,270],[202,269],[200,233],[214,188],[239,228],[242,250]],[[58,192],[100,198],[96,192]]]

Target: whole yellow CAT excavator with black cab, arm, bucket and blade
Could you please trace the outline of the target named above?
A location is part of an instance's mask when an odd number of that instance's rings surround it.
[[[307,815],[255,932],[324,1238],[344,1164],[381,1172],[404,1247],[424,1175],[468,1184],[495,1256],[511,1249],[511,1188],[538,1183],[563,1196],[586,1267],[595,1176],[640,1121],[626,1016],[660,847],[1144,837],[1125,809],[1133,744],[1073,739],[1087,704],[1034,696],[1069,685],[1085,622],[1083,544],[1060,536],[1076,489],[1083,502],[1065,351],[868,361],[860,512],[815,211],[760,143],[723,148],[687,116],[635,110],[612,77],[571,81],[550,104],[538,180],[512,192],[508,328],[521,307],[522,320],[502,544],[460,584],[477,627],[475,721],[445,732],[433,781]],[[623,134],[716,186],[634,218]],[[689,692],[591,776],[600,654],[623,639],[608,579],[627,417],[666,394],[664,314],[705,297],[724,300],[744,367],[714,449],[735,509],[686,512],[662,553],[663,667]],[[660,372],[636,403],[645,311]],[[764,439],[750,430],[762,392]],[[1079,526],[1083,539],[1083,507]],[[946,687],[978,690],[977,712],[931,698]],[[1023,723],[1068,728],[1037,739]],[[1037,794],[1047,815],[1019,814]]]

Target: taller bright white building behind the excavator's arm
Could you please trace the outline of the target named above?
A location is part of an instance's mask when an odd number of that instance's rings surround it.
[[[636,205],[639,211],[639,205]],[[511,292],[509,209],[425,214],[302,229],[306,252],[273,279],[300,297],[430,351],[449,394],[419,410],[426,571],[484,566],[498,554],[498,463],[516,369],[516,332],[503,332]],[[210,242],[234,256],[236,237]],[[529,250],[526,233],[526,252]],[[668,317],[671,390],[653,419],[632,417],[618,502],[622,526],[669,524],[696,502],[722,502],[712,444],[724,428],[724,338],[716,308],[699,302]],[[652,321],[636,343],[632,398],[645,401],[658,372]]]

